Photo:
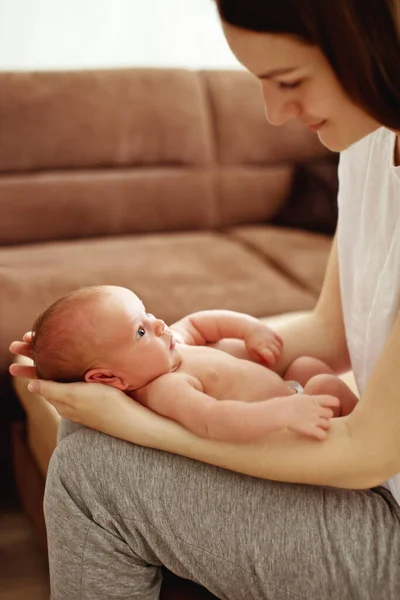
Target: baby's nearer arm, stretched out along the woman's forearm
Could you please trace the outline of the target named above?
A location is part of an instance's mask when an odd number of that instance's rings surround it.
[[[330,396],[287,396],[253,403],[215,400],[202,392],[198,380],[178,373],[163,375],[134,397],[200,437],[239,443],[285,428],[323,440],[338,403]]]

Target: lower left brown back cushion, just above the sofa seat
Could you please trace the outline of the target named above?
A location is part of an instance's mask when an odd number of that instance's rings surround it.
[[[271,207],[263,194],[263,214],[282,205],[285,183],[278,177],[271,186]],[[216,222],[210,175],[191,169],[4,175],[0,198],[2,245],[207,229]]]

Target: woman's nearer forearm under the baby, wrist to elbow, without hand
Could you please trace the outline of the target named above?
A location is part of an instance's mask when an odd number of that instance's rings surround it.
[[[328,437],[322,442],[284,430],[251,444],[197,437],[178,423],[132,401],[124,403],[122,410],[118,407],[112,418],[93,425],[135,444],[254,477],[344,488],[372,487],[381,481],[365,464],[363,453],[356,450],[348,418],[332,419]]]

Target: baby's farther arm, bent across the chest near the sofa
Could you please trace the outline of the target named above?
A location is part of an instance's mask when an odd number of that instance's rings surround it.
[[[205,346],[224,338],[243,340],[254,359],[273,364],[280,356],[282,338],[255,317],[230,310],[205,310],[184,317],[170,329],[185,344]]]

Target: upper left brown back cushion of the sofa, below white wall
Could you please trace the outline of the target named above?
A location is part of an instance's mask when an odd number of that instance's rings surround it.
[[[0,81],[0,172],[210,160],[193,71],[39,71],[3,73]]]

